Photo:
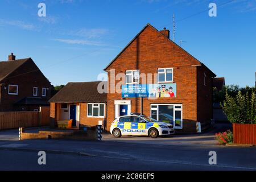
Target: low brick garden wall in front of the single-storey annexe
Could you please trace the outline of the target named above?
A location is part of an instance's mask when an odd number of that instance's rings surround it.
[[[39,133],[26,133],[24,128],[20,133],[20,140],[27,139],[71,139],[71,140],[97,140],[96,131],[39,131]]]

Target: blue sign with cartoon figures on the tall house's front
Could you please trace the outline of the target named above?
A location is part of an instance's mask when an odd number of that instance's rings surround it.
[[[122,98],[175,98],[176,84],[133,84],[122,85]]]

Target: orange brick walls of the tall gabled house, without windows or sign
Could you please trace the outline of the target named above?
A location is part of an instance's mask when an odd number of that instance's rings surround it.
[[[107,71],[115,69],[115,75],[125,73],[127,70],[139,69],[140,73],[157,73],[158,68],[174,68],[174,82],[177,84],[176,98],[161,98],[158,100],[143,99],[143,114],[150,115],[150,104],[183,104],[183,130],[195,132],[196,121],[204,122],[211,117],[210,96],[211,92],[205,90],[199,93],[201,88],[197,85],[197,71],[199,65],[194,57],[189,55],[175,43],[170,42],[165,36],[159,34],[153,27],[148,26],[142,33],[110,64]],[[201,68],[202,66],[200,66]],[[208,73],[208,71],[205,71]],[[210,75],[208,73],[208,75]],[[115,86],[114,80],[109,76],[108,94],[108,129],[115,118],[114,101],[122,100],[121,94],[110,93],[110,87]],[[154,79],[154,77],[153,77]],[[118,81],[116,81],[118,82]],[[209,83],[210,86],[210,83]],[[208,94],[208,100],[203,101],[203,94]],[[200,100],[197,100],[200,97]],[[131,98],[131,111],[140,112],[140,98]],[[209,102],[208,102],[209,101]],[[207,104],[208,102],[208,104]],[[199,106],[201,105],[201,106]],[[204,113],[207,111],[207,113]],[[199,114],[197,114],[199,112]]]

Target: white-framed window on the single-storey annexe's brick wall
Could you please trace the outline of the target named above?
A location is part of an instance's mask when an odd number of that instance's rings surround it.
[[[89,118],[104,118],[105,104],[88,104],[87,117]]]

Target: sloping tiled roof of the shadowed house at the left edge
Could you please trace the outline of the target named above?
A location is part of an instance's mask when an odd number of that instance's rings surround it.
[[[13,61],[0,61],[0,81],[10,75],[12,72],[14,72],[29,59],[30,58],[17,59]]]

